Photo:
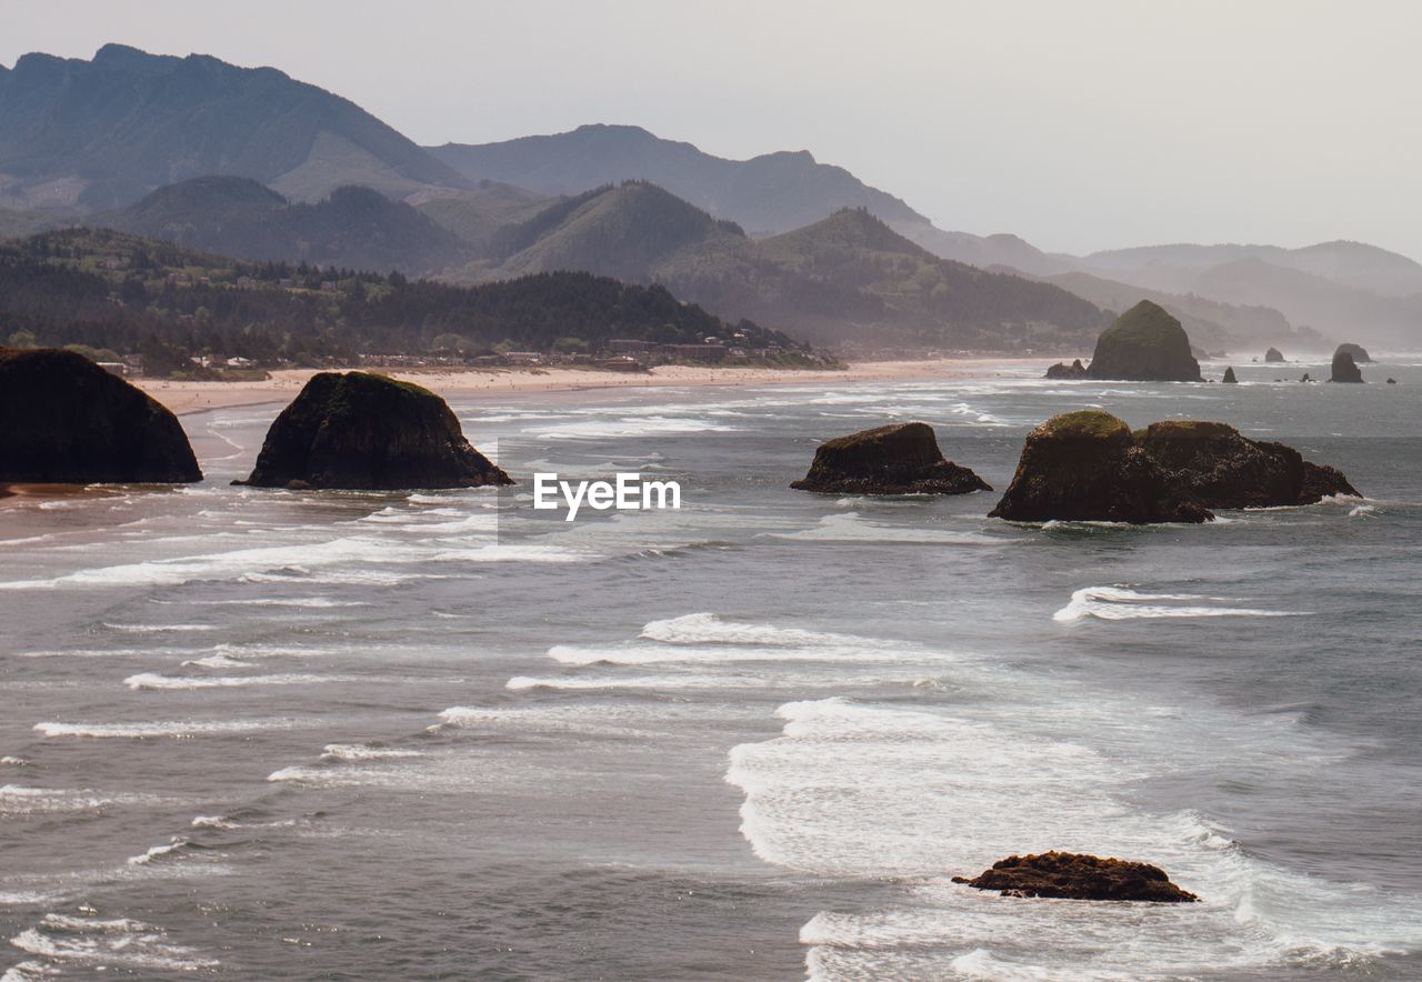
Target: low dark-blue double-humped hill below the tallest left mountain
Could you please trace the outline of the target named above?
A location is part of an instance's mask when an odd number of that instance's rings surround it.
[[[438,273],[474,252],[434,219],[368,188],[290,205],[249,178],[193,178],[85,223],[239,259],[408,274]]]

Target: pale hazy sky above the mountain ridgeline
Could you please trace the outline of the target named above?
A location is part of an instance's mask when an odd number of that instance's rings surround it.
[[[421,144],[637,124],[809,149],[1051,250],[1359,239],[1422,259],[1422,3],[6,0],[0,63],[269,64]]]

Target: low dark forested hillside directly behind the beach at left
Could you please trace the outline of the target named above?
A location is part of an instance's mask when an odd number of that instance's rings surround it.
[[[596,350],[610,338],[697,342],[739,331],[748,347],[796,342],[729,325],[658,286],[549,273],[478,287],[401,274],[245,263],[102,229],[0,244],[0,342],[141,352],[154,367],[195,354],[353,364],[449,345]]]

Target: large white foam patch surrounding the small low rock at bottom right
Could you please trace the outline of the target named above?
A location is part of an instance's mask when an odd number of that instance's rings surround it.
[[[1113,759],[1025,722],[838,698],[778,715],[782,735],[737,746],[727,772],[745,794],[752,850],[818,875],[902,884],[897,904],[803,927],[811,978],[1260,973],[1422,942],[1413,901],[1261,863],[1197,813],[1123,804],[1118,790],[1155,765],[1150,746]],[[1204,904],[1022,901],[947,881],[1045,848],[1158,863]]]

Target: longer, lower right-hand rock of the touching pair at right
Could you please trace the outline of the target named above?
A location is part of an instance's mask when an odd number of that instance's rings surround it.
[[[1358,490],[1334,468],[1304,460],[1291,446],[1251,441],[1226,423],[1169,419],[1136,442],[1182,495],[1207,509],[1313,505]]]

